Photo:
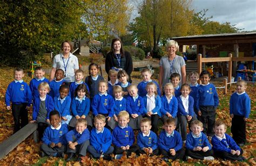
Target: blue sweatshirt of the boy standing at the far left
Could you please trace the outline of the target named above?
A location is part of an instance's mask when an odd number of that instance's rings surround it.
[[[5,104],[10,106],[10,104],[22,104],[27,103],[27,106],[30,106],[32,103],[32,96],[29,85],[24,81],[22,83],[12,81],[6,90],[5,93]]]

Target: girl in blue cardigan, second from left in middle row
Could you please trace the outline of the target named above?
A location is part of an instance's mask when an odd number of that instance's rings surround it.
[[[70,115],[71,98],[69,95],[69,85],[63,84],[59,88],[59,96],[53,99],[54,108],[62,118],[62,125],[68,124],[72,118]]]

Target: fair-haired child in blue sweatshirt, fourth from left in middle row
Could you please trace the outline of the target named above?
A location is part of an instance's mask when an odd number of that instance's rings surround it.
[[[113,120],[114,114],[114,100],[113,97],[107,94],[107,83],[104,80],[99,81],[99,93],[94,96],[92,100],[92,114],[97,116],[97,114],[103,114],[106,117],[107,128],[114,129],[115,122]]]

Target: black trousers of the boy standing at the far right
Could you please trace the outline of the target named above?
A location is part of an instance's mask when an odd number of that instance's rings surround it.
[[[244,116],[234,115],[234,118],[232,118],[231,133],[235,142],[246,142],[246,121],[244,120]]]

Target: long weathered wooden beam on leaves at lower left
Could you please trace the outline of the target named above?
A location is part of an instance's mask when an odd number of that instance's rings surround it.
[[[33,132],[37,129],[37,123],[29,123],[28,125],[24,126],[14,135],[10,136],[8,139],[4,140],[0,144],[0,160],[4,158],[5,155],[8,155],[10,151],[14,150],[16,146],[19,145],[22,141],[28,138]]]

